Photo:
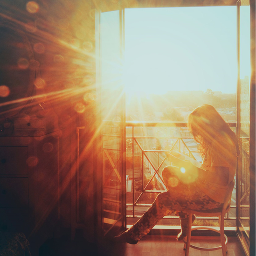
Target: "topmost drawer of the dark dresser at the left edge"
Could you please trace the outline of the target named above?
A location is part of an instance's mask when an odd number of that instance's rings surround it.
[[[28,174],[27,146],[0,146],[0,174]]]

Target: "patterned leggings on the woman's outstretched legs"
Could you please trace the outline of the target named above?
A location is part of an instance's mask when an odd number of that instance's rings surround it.
[[[173,166],[166,167],[163,170],[163,178],[168,191],[160,193],[145,214],[126,231],[132,240],[139,241],[149,233],[158,221],[175,211],[182,213],[186,213],[186,210],[207,212],[212,209],[221,208],[223,205],[204,194],[199,188],[197,181],[183,184],[176,179],[175,175],[169,175],[166,178],[164,172],[166,169],[170,172]],[[171,185],[168,186],[169,184]]]

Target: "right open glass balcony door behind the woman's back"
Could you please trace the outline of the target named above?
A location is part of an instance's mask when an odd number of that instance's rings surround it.
[[[250,6],[249,0],[238,7],[238,97],[237,119],[241,142],[238,165],[237,228],[242,246],[249,255],[249,138],[250,138]]]

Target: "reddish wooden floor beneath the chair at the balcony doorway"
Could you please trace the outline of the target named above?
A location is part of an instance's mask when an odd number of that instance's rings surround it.
[[[192,237],[191,243],[201,247],[219,246],[216,238]],[[105,248],[105,256],[184,256],[183,242],[176,241],[174,236],[147,235],[138,244],[117,244]],[[227,256],[245,256],[242,246],[236,237],[228,237]],[[189,256],[222,256],[221,250],[202,251],[190,248]]]

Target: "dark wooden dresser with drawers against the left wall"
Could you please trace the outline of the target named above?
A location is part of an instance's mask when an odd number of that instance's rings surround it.
[[[38,249],[59,222],[58,132],[0,137],[0,230],[23,232]]]

